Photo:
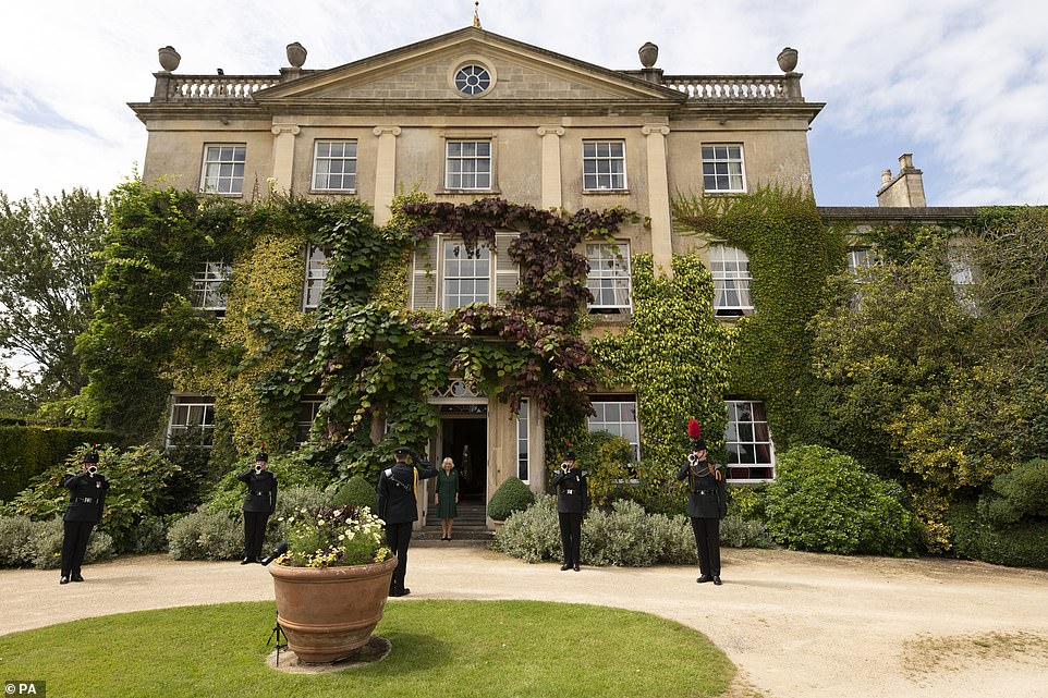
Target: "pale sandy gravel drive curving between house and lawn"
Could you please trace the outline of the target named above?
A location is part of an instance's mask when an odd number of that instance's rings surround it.
[[[655,613],[705,633],[767,698],[1048,698],[1048,572],[949,560],[727,550],[724,585],[685,567],[560,572],[474,548],[412,549],[406,599],[535,599]],[[124,558],[0,571],[0,634],[175,605],[272,599],[265,568]],[[748,687],[755,688],[752,691]]]

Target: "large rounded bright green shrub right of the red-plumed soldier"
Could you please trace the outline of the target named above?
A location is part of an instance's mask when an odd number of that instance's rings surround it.
[[[782,454],[768,486],[768,532],[793,549],[900,554],[911,548],[912,519],[902,489],[822,446]]]

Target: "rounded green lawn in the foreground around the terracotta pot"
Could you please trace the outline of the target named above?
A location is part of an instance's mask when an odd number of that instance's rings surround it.
[[[695,630],[654,615],[534,601],[386,607],[381,662],[296,676],[265,665],[271,602],[143,611],[0,636],[0,678],[48,698],[718,696],[735,669]]]

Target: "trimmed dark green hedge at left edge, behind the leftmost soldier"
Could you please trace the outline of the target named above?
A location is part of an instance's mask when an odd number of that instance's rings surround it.
[[[0,426],[0,501],[13,499],[34,477],[63,463],[76,446],[115,442],[117,434],[97,429]]]

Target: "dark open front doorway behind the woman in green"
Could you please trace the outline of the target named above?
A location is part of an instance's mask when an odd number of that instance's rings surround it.
[[[439,468],[446,457],[452,458],[459,473],[459,501],[485,504],[488,487],[487,409],[484,405],[470,407],[475,409],[473,414],[441,414],[437,443],[439,457],[434,460],[434,465]]]

